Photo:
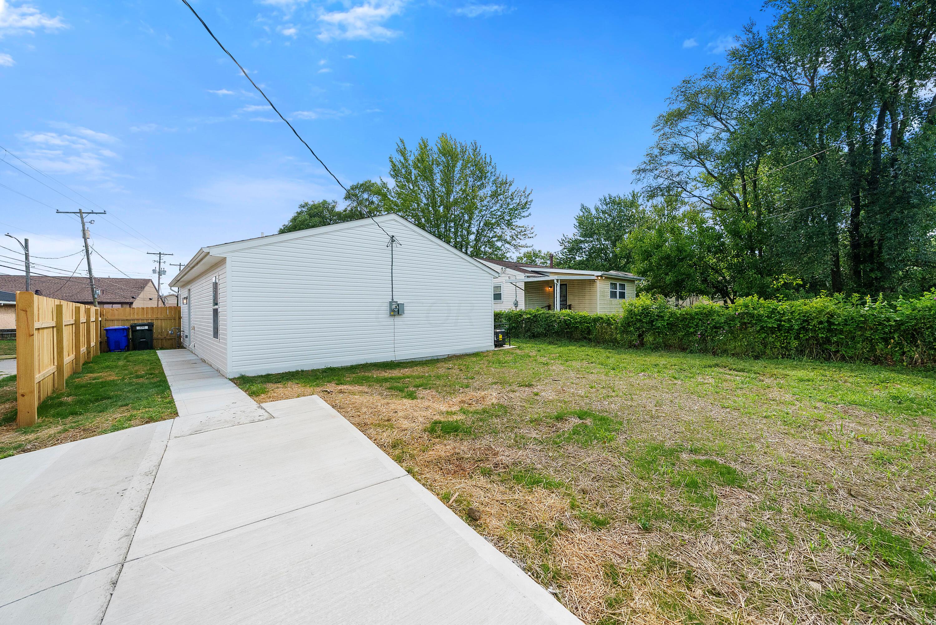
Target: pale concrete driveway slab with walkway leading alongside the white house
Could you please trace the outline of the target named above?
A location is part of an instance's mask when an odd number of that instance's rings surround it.
[[[0,622],[580,623],[325,401],[159,356],[178,418],[0,460]]]

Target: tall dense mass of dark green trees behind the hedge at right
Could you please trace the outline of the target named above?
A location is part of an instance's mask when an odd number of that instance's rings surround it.
[[[717,233],[698,249],[718,254],[735,297],[791,280],[812,293],[931,288],[936,4],[768,6],[768,28],[749,24],[724,65],[674,89],[637,181],[694,211],[687,236]]]

